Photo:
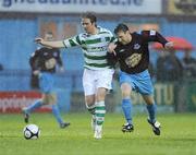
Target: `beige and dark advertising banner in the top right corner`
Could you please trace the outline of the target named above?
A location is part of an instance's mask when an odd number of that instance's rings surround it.
[[[196,0],[169,0],[168,13],[179,15],[196,15]]]

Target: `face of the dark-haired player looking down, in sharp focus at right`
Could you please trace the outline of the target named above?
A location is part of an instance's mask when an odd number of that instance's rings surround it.
[[[131,38],[131,35],[130,35],[130,32],[123,32],[123,31],[120,31],[118,34],[117,34],[117,37],[119,39],[119,41],[123,45],[126,45],[128,44],[132,38]]]

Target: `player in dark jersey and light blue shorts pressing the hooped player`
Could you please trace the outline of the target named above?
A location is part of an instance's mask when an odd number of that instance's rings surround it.
[[[118,43],[110,44],[108,61],[111,65],[120,63],[120,84],[122,92],[122,109],[126,123],[123,126],[123,132],[134,130],[132,121],[132,102],[131,92],[136,91],[142,94],[149,114],[148,122],[152,127],[156,135],[160,135],[160,123],[156,120],[156,104],[152,96],[154,87],[148,72],[149,50],[148,43],[158,41],[164,48],[172,48],[173,44],[168,43],[156,31],[142,31],[130,33],[125,24],[119,24],[114,34]]]

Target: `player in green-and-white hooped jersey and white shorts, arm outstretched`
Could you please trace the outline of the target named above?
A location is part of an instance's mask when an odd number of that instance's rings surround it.
[[[82,26],[85,33],[78,34],[65,40],[47,41],[36,38],[36,43],[52,48],[70,48],[81,46],[84,52],[83,87],[85,103],[93,115],[91,126],[94,138],[101,139],[102,123],[105,121],[105,98],[108,90],[111,90],[114,70],[107,62],[107,51],[110,43],[114,41],[113,34],[97,26],[97,17],[93,13],[82,15]]]

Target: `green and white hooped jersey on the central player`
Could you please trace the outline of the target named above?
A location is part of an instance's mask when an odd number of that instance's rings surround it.
[[[114,41],[113,34],[102,27],[98,27],[96,35],[82,33],[63,40],[65,48],[81,46],[84,53],[84,68],[90,70],[111,69],[107,62],[108,45]]]

